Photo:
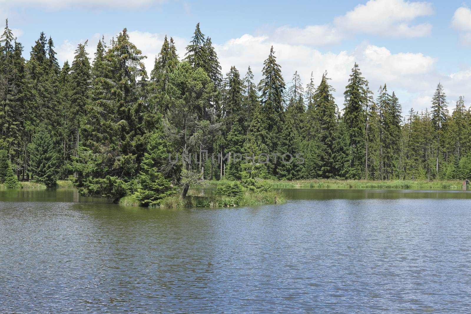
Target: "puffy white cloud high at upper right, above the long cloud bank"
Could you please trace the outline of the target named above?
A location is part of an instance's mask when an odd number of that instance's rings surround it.
[[[273,37],[291,44],[329,45],[352,34],[371,34],[382,37],[414,38],[429,36],[432,25],[413,24],[421,16],[430,16],[433,9],[428,2],[405,0],[370,0],[357,5],[330,24],[308,25],[304,28],[282,26]]]

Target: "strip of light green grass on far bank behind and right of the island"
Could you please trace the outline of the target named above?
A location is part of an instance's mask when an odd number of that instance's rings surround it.
[[[310,179],[310,180],[266,180],[274,189],[403,189],[403,190],[461,190],[462,181],[426,181],[426,180],[335,180],[335,179]],[[206,187],[217,187],[227,184],[228,180],[206,180]]]

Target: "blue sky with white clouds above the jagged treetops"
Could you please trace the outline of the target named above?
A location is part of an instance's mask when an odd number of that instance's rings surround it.
[[[93,57],[101,36],[109,41],[126,27],[150,72],[163,37],[174,38],[183,58],[199,22],[223,73],[235,65],[244,75],[251,66],[260,80],[273,45],[288,85],[295,71],[304,84],[327,71],[340,108],[355,62],[375,96],[386,84],[404,114],[430,107],[439,82],[450,111],[459,96],[471,104],[471,9],[463,1],[0,0],[0,18],[26,58],[41,31],[62,64],[79,43],[88,40]]]

